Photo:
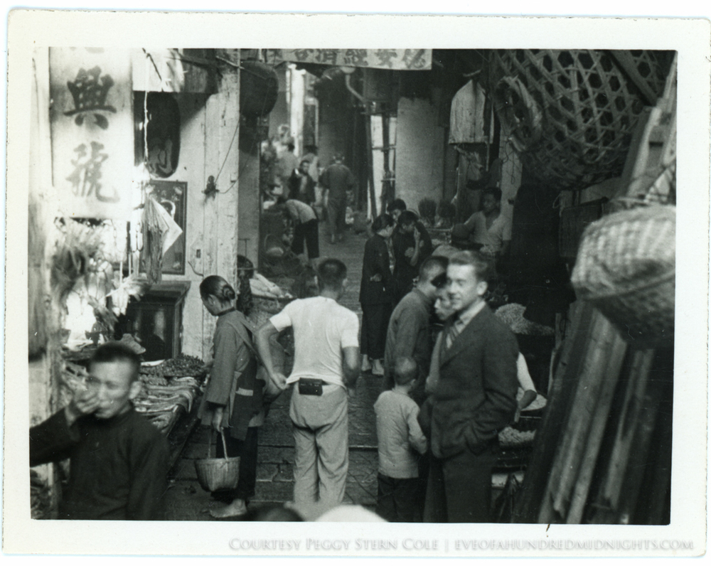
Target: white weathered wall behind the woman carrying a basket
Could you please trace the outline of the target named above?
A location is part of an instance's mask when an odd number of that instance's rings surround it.
[[[181,155],[170,179],[188,183],[186,273],[164,275],[166,280],[191,282],[183,309],[183,352],[203,359],[210,354],[215,319],[203,309],[200,282],[211,274],[225,277],[230,284],[237,279],[237,73],[223,73],[218,88],[218,94],[209,97],[176,95],[181,110]],[[220,192],[213,196],[203,193],[208,176],[217,178]]]

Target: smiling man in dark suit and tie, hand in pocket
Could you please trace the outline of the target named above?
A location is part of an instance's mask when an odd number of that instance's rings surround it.
[[[518,346],[483,300],[491,265],[479,252],[449,260],[455,310],[434,346],[419,420],[432,445],[426,522],[486,523],[498,431],[516,410]]]

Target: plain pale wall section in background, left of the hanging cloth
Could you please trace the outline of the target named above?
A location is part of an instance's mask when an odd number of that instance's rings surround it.
[[[396,151],[395,196],[412,210],[417,210],[422,198],[439,201],[444,185],[444,128],[429,100],[400,98]]]

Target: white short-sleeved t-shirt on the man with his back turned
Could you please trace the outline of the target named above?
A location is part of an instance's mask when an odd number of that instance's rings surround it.
[[[299,378],[343,385],[343,348],[358,348],[358,315],[326,297],[296,299],[269,321],[277,331],[294,328],[294,368]]]

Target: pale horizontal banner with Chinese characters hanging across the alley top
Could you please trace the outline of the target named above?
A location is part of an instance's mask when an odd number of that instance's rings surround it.
[[[429,70],[432,49],[267,49],[267,63],[319,63],[334,67]]]

